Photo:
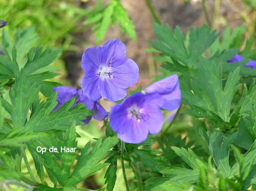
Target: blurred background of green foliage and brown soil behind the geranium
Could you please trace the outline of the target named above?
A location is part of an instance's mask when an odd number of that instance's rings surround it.
[[[13,35],[18,28],[34,25],[38,33],[36,45],[60,47],[62,55],[52,66],[57,67],[62,74],[54,80],[65,85],[80,85],[83,76],[81,55],[84,50],[90,46],[102,46],[111,38],[124,42],[127,57],[135,60],[140,67],[140,81],[133,89],[171,75],[172,72],[160,67],[170,57],[160,55],[147,42],[155,40],[152,21],[164,25],[168,23],[172,29],[179,25],[185,37],[188,37],[190,26],[207,24],[217,32],[223,32],[206,52],[206,57],[213,55],[217,47],[221,47],[220,50],[240,48],[244,58],[256,60],[255,51],[249,51],[255,47],[255,0],[0,0],[0,20],[8,22],[5,29]],[[104,100],[101,100],[101,104],[107,111],[111,108],[110,103]],[[167,120],[163,131],[170,124],[168,119],[173,113],[164,114]],[[82,138],[78,138],[78,146],[82,148],[94,137],[104,136],[102,125],[103,122],[92,120],[89,125],[79,127],[77,133]],[[188,165],[175,154],[171,146],[192,148],[207,160],[209,151],[199,136],[199,127],[209,128],[204,120],[180,114],[171,129],[168,129],[167,136],[159,136],[152,147],[162,150],[168,161],[176,166]],[[31,155],[27,155],[32,164]],[[22,167],[25,169],[25,164]],[[34,166],[31,168],[35,170]],[[144,169],[144,180],[155,176],[149,174],[147,168],[141,169]],[[102,174],[105,171],[103,169],[85,179],[78,187],[104,187]],[[132,170],[126,173],[132,182]],[[120,166],[115,190],[125,190]]]

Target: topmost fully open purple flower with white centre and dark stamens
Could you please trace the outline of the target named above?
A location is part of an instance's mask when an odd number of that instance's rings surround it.
[[[85,50],[82,68],[85,75],[81,87],[93,101],[101,97],[109,101],[121,100],[127,95],[126,88],[132,87],[139,79],[137,64],[126,58],[126,47],[117,39],[109,40],[102,47]]]

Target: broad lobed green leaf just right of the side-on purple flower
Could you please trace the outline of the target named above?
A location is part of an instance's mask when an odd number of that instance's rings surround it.
[[[224,88],[222,87],[222,67],[220,64],[201,58],[198,63],[198,70],[200,76],[193,75],[193,80],[191,80],[193,93],[183,83],[181,84],[183,103],[192,108],[187,113],[196,117],[215,118],[217,120],[220,118],[220,120],[229,121],[231,101],[235,92],[241,87],[241,84],[237,85],[240,79],[239,68],[230,72]]]

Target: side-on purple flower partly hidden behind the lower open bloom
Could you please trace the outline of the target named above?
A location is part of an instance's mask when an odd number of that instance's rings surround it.
[[[164,102],[160,106],[165,110],[173,111],[180,106],[181,92],[179,89],[178,75],[171,75],[152,83],[142,93],[158,93],[162,95]]]

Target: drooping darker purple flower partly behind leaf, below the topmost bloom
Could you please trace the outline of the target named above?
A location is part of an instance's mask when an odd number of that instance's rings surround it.
[[[58,96],[57,96],[58,104],[53,111],[56,111],[68,100],[77,96],[77,99],[73,106],[77,104],[85,104],[85,107],[87,107],[92,112],[94,112],[94,115],[87,116],[86,120],[82,120],[85,123],[85,125],[90,122],[92,117],[95,120],[104,120],[108,116],[105,109],[97,101],[92,101],[87,96],[85,96],[81,89],[74,88],[74,87],[60,86],[60,87],[53,88],[53,91],[56,91],[56,90],[58,91]]]

